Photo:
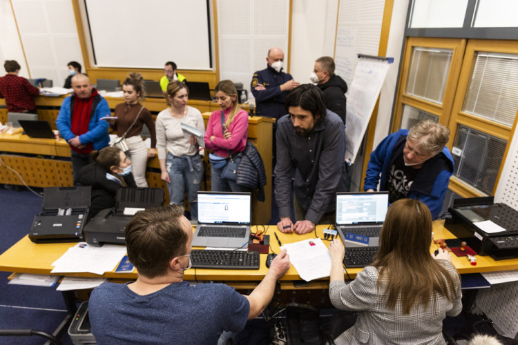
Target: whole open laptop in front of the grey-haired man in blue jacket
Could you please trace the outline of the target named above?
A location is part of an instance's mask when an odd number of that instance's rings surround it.
[[[379,234],[388,208],[388,192],[336,193],[336,230],[346,248],[365,246],[347,242],[346,234],[369,237],[368,246],[379,245]]]

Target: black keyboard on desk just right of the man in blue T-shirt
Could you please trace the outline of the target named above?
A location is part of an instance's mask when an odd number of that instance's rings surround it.
[[[193,249],[191,251],[191,262],[193,263],[193,268],[258,270],[259,252]]]

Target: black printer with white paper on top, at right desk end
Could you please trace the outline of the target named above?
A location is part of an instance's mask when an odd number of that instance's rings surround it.
[[[465,239],[479,255],[490,255],[495,260],[518,257],[517,210],[495,204],[493,197],[474,197],[455,199],[448,212],[452,217],[445,220],[445,228]],[[499,231],[491,232],[486,226]]]

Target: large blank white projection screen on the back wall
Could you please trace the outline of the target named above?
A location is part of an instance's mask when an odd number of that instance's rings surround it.
[[[211,70],[208,0],[84,0],[95,66]]]

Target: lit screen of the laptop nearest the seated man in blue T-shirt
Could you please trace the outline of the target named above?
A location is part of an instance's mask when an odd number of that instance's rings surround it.
[[[251,224],[250,193],[198,193],[198,223]]]

